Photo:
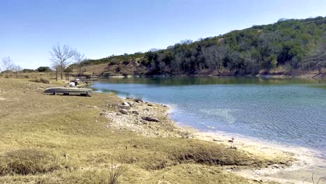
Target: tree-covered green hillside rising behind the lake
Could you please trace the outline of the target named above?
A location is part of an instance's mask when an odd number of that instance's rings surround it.
[[[183,40],[166,49],[90,59],[73,66],[108,76],[290,75],[310,71],[321,75],[325,73],[325,53],[326,17],[316,17],[279,20],[196,42]]]

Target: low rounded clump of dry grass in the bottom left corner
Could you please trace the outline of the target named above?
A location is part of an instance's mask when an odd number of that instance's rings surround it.
[[[0,175],[45,174],[60,167],[54,155],[36,149],[19,149],[0,156]]]

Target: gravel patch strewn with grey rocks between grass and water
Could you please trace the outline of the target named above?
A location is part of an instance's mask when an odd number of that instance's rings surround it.
[[[176,127],[168,117],[169,107],[138,98],[126,98],[121,104],[106,104],[114,107],[111,112],[104,112],[110,122],[106,128],[130,130],[146,137],[184,137],[189,138],[189,130]]]

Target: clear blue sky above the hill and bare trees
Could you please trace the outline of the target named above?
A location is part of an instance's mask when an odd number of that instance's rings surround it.
[[[99,59],[325,15],[325,0],[1,0],[0,57],[37,68],[56,43]]]

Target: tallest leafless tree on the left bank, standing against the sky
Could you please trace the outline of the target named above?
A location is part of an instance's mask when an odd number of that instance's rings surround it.
[[[63,79],[63,70],[71,63],[72,57],[75,55],[75,49],[69,45],[63,45],[61,47],[61,45],[56,44],[52,47],[50,54],[52,65],[56,66],[56,70],[61,72],[61,79]]]

